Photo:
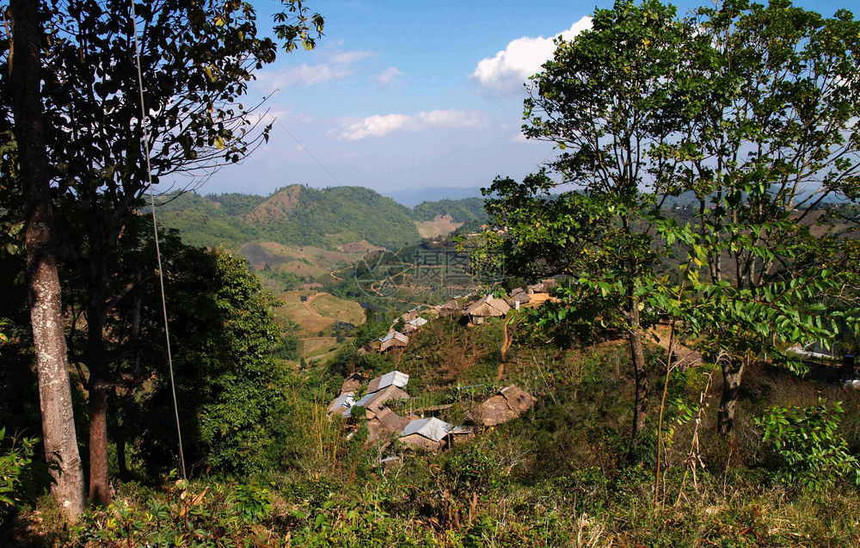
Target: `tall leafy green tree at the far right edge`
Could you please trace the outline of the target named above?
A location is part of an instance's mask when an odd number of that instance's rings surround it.
[[[750,361],[784,361],[786,344],[832,340],[832,320],[856,318],[851,244],[821,204],[860,191],[860,23],[787,0],[731,0],[693,23],[676,75],[680,138],[653,154],[677,166],[668,191],[698,199],[684,239],[694,289],[712,300],[698,328],[722,368],[728,434]],[[841,311],[825,306],[834,299]]]

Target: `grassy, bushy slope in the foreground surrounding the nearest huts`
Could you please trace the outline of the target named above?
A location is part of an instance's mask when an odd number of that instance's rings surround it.
[[[650,455],[660,379],[652,367],[655,389],[640,448],[643,463],[631,466],[625,439],[632,379],[626,345],[617,341],[561,350],[518,338],[499,384],[515,382],[532,391],[535,407],[451,451],[404,452],[402,466],[388,470],[377,464],[387,453],[365,447],[361,430],[347,438],[342,423],[325,416],[341,369],[379,373],[397,367],[412,375],[407,391],[424,403],[454,402],[443,417],[458,422],[472,400],[492,392],[500,336],[498,321],[471,329],[434,321],[402,353],[344,353],[331,367],[297,372],[285,393],[288,423],[295,427],[285,440],[284,469],[255,480],[267,486],[270,508],[252,520],[230,521],[247,505],[200,495],[194,515],[212,517],[195,517],[195,527],[259,544],[288,537],[302,546],[850,546],[860,540],[856,487],[815,491],[780,483],[751,422],[770,405],[813,404],[819,395],[841,399],[841,433],[856,453],[860,394],[766,368],[749,371],[734,444],[713,433],[719,375],[708,383],[711,371],[694,368],[673,377],[670,402],[697,401],[707,386],[709,407],[699,430],[701,466],[695,466],[694,480],[685,464],[694,423],[680,420],[670,404],[666,419],[674,433],[657,508]],[[661,352],[649,348],[652,366]],[[475,384],[485,387],[455,389]],[[400,450],[392,446],[387,452]],[[188,489],[183,496],[191,500],[206,489],[236,487],[202,479]],[[178,499],[172,485],[161,491],[124,486],[121,511],[95,510],[103,519],[88,522],[89,530],[101,527],[119,538],[130,530],[143,541],[149,530],[141,523],[148,522],[136,516],[164,508],[171,496]],[[176,512],[182,508],[180,501]],[[104,525],[108,517],[117,521],[114,529]],[[173,525],[161,518],[152,527],[181,527],[186,520],[177,517]]]

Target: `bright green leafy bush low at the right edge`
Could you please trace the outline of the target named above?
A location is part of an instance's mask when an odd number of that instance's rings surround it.
[[[762,439],[782,460],[780,478],[788,484],[831,486],[845,478],[860,485],[860,460],[838,434],[840,402],[809,407],[772,407],[756,419]]]

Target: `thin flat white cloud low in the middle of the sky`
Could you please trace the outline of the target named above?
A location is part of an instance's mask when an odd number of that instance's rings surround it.
[[[384,137],[397,131],[423,131],[431,128],[475,128],[484,124],[480,112],[469,110],[429,110],[417,114],[378,114],[344,125],[337,133],[342,141]]]

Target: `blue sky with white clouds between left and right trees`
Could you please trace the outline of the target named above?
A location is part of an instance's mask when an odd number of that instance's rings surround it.
[[[595,6],[612,5],[306,3],[326,19],[318,48],[281,54],[251,86],[251,99],[278,89],[269,101],[270,116],[278,118],[272,139],[216,173],[201,192],[268,194],[302,183],[387,193],[522,177],[553,155],[546,143],[519,138],[525,75],[551,53],[552,37],[575,34]],[[839,7],[860,11],[857,0],[797,3],[825,15]],[[266,28],[278,2],[254,4]],[[683,13],[698,3],[678,5]]]

